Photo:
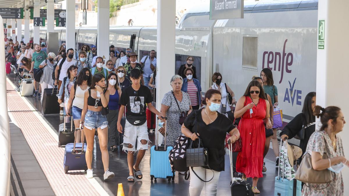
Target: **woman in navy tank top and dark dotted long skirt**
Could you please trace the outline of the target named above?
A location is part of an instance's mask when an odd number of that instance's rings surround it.
[[[108,121],[108,147],[110,151],[116,152],[120,145],[120,135],[117,130],[117,122],[119,116],[119,98],[121,96],[121,89],[117,82],[118,76],[115,73],[109,74],[107,78],[107,89],[110,92],[109,95],[109,113],[107,114]]]

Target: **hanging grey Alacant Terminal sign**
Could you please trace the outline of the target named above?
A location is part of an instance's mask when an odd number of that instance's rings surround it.
[[[244,18],[244,0],[210,0],[210,20]]]

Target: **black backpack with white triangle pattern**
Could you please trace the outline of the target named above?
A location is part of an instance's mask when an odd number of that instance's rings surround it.
[[[189,147],[190,138],[186,137],[184,134],[179,136],[176,140],[176,144],[169,153],[169,159],[172,171],[186,172],[185,179],[188,180],[190,173],[189,167],[187,167],[187,159],[185,152]]]

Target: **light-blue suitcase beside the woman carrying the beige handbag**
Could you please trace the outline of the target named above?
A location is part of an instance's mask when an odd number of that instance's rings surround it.
[[[280,150],[281,150],[282,144],[285,145],[285,142],[286,141],[281,140]],[[279,157],[281,159],[281,152],[280,152]],[[280,159],[279,159],[279,165],[280,165]],[[282,172],[282,173],[284,173],[284,172]],[[301,194],[302,194],[302,182],[300,182],[296,179],[288,180],[288,179],[285,179],[284,176],[282,176],[282,178],[281,178],[280,177],[280,166],[279,166],[277,176],[275,177],[274,196],[300,196]]]

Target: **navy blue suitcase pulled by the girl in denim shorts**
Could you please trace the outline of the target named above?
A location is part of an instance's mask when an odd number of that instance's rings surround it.
[[[75,129],[75,133],[77,133],[77,130],[79,130],[79,128]],[[87,144],[84,143],[84,140],[82,143],[76,143],[75,140],[74,143],[69,143],[65,146],[63,162],[64,173],[71,170],[87,170],[85,159],[86,148]]]

